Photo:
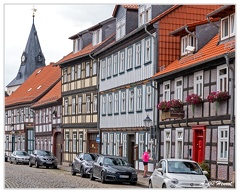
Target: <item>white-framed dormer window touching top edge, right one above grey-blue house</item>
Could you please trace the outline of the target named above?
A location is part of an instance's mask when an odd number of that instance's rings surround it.
[[[150,4],[139,6],[139,27],[152,19],[152,7]]]

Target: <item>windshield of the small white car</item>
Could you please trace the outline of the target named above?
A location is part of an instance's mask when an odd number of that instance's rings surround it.
[[[168,173],[184,173],[202,175],[197,163],[187,161],[168,161]]]

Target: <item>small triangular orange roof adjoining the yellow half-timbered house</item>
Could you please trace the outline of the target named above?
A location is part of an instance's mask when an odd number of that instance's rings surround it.
[[[32,105],[32,108],[51,104],[61,99],[61,84],[61,80],[59,80],[59,82],[47,94],[45,94],[39,101]]]

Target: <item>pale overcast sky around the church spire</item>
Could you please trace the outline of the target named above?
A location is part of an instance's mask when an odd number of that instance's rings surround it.
[[[112,17],[115,4],[35,4],[34,23],[45,63],[72,51],[70,36]],[[33,23],[33,4],[4,5],[4,81],[17,75]]]

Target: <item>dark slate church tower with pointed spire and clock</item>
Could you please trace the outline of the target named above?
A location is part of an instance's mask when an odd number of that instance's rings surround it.
[[[33,10],[33,24],[28,37],[27,45],[21,56],[21,64],[17,76],[7,85],[7,94],[11,95],[27,78],[39,67],[46,66],[45,58],[39,43],[34,25],[37,9]]]

